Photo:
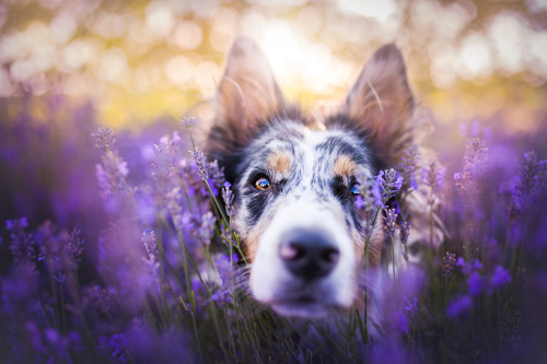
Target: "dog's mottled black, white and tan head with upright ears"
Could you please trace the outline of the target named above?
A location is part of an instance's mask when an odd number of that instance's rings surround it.
[[[252,261],[254,297],[289,316],[350,307],[372,219],[354,206],[356,176],[395,165],[411,139],[400,52],[379,49],[340,108],[317,120],[286,103],[257,46],[238,38],[217,101],[208,150],[235,192],[233,225]],[[376,230],[372,266],[382,242]]]

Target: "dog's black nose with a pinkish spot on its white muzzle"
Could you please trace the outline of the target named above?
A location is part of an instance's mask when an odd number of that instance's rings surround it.
[[[340,251],[325,234],[295,230],[284,236],[279,255],[294,275],[313,280],[334,270]]]

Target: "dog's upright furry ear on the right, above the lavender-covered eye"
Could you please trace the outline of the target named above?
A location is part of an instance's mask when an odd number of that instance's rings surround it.
[[[412,140],[412,113],[403,56],[395,45],[384,46],[364,66],[342,114],[368,133],[375,152],[393,165]]]

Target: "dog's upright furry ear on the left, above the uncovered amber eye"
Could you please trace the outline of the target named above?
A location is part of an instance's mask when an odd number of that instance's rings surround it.
[[[253,40],[238,37],[230,50],[217,90],[209,150],[213,154],[231,153],[246,145],[256,130],[283,104],[266,57]]]

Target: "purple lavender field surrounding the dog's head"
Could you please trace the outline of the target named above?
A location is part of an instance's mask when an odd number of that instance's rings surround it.
[[[470,124],[443,168],[417,168],[409,151],[399,172],[414,183],[397,197],[433,186],[445,234],[438,251],[406,250],[419,269],[382,287],[371,330],[359,310],[333,325],[253,302],[229,184],[188,153],[196,120],[114,134],[89,105],[56,103],[72,126],[56,125],[55,105],[43,125],[2,120],[2,214],[15,214],[0,246],[2,362],[542,361],[544,134]]]

